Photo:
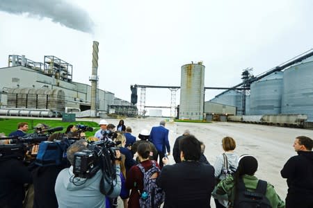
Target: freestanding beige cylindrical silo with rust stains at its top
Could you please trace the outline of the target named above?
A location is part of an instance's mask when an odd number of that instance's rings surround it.
[[[201,62],[182,66],[179,119],[203,119],[204,69]]]

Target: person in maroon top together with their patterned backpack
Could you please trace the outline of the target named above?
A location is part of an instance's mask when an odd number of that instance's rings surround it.
[[[160,166],[149,159],[150,151],[150,144],[139,144],[137,153],[140,163],[132,166],[127,173],[126,187],[131,190],[129,208],[157,208],[164,200],[164,193],[156,184]]]

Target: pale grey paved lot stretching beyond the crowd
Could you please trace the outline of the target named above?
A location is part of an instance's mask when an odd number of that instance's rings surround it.
[[[99,121],[99,119],[93,119]],[[118,119],[106,119],[109,123],[118,124]],[[161,118],[131,119],[127,118],[125,125],[131,126],[133,135],[143,130],[151,130],[152,126],[159,125]],[[313,138],[313,130],[300,128],[282,128],[268,125],[248,123],[182,123],[168,122],[166,128],[170,130],[170,146],[175,139],[188,129],[195,137],[206,145],[205,155],[211,164],[216,156],[223,153],[221,140],[225,136],[236,140],[236,153],[239,155],[250,154],[257,158],[259,168],[257,177],[273,184],[275,190],[284,199],[287,195],[287,183],[280,176],[280,170],[289,157],[296,155],[292,144],[296,136],[305,135]],[[173,163],[172,157],[170,157]],[[215,207],[211,200],[211,207]]]

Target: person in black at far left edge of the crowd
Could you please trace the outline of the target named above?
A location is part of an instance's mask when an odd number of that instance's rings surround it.
[[[6,140],[0,140],[0,148],[4,148],[5,142]],[[22,162],[23,158],[24,152],[16,148],[12,148],[8,154],[0,153],[0,207],[22,208],[24,184],[32,181],[31,173]]]

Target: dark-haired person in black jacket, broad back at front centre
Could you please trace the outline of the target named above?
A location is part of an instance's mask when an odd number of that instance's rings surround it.
[[[163,208],[210,207],[214,167],[199,162],[201,145],[193,135],[180,140],[179,149],[182,162],[163,166],[157,179],[157,185],[166,193]],[[168,159],[163,158],[163,162],[168,164]]]

